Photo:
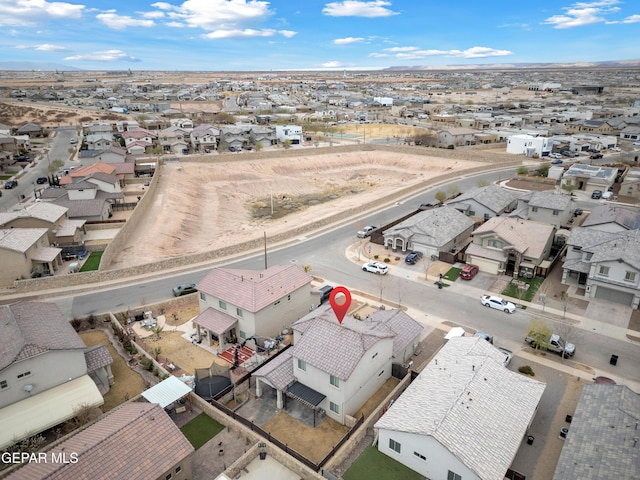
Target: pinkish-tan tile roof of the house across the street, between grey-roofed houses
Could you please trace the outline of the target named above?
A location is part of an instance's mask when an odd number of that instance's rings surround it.
[[[527,257],[540,258],[555,227],[516,217],[491,217],[473,231],[473,236],[495,234]]]

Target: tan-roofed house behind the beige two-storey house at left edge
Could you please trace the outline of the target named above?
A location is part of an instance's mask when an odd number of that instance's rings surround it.
[[[71,220],[68,209],[50,202],[36,202],[22,210],[0,213],[0,228],[46,228],[50,245],[70,245],[84,240],[84,220]]]

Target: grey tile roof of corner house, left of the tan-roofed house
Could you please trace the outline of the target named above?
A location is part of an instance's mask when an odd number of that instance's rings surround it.
[[[384,231],[385,237],[411,239],[413,244],[442,247],[473,226],[473,220],[452,207],[418,212]],[[461,239],[461,241],[464,239]]]

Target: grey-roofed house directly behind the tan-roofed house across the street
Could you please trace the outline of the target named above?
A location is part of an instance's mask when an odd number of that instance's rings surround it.
[[[574,203],[570,195],[543,191],[525,194],[518,199],[518,207],[509,215],[548,223],[558,229],[569,224],[573,211]]]

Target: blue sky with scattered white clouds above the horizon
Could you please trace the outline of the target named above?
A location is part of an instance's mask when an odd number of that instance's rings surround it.
[[[0,0],[0,61],[319,70],[640,59],[638,0]]]

